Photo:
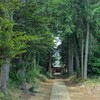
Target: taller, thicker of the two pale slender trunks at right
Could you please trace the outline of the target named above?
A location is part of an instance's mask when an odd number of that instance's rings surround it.
[[[89,44],[89,22],[87,22],[87,33],[86,33],[86,47],[85,47],[85,60],[84,60],[84,79],[87,79],[88,44]]]

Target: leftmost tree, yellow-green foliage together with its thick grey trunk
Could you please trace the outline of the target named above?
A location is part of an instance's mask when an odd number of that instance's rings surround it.
[[[24,32],[13,31],[13,13],[18,8],[18,4],[18,1],[2,1],[0,4],[2,11],[0,14],[0,56],[2,59],[0,87],[3,91],[7,88],[12,58],[25,52],[27,46],[25,41],[28,38]]]

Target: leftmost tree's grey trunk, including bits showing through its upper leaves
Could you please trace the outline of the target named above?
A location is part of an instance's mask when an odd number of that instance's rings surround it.
[[[8,0],[5,0],[5,3],[8,3]],[[13,21],[13,10],[11,11],[7,11],[5,14],[7,15],[9,21]],[[1,67],[1,78],[0,78],[0,88],[3,91],[6,91],[7,89],[7,84],[8,84],[8,80],[9,80],[9,72],[10,72],[10,59],[6,58],[3,59],[3,64]]]

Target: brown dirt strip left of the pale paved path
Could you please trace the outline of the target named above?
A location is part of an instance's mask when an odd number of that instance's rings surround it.
[[[49,79],[47,82],[41,82],[37,93],[34,95],[24,94],[24,100],[50,100],[52,92],[53,79]]]

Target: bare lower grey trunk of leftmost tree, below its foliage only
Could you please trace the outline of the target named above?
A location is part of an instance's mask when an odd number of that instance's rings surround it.
[[[1,67],[0,88],[6,91],[9,80],[10,60],[6,58]]]

